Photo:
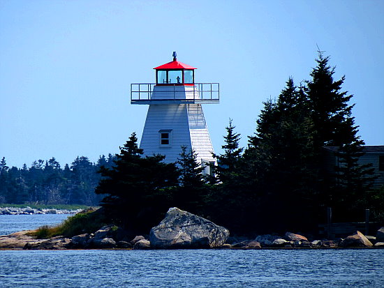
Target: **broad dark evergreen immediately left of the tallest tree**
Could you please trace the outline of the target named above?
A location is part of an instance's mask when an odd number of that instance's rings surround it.
[[[244,173],[258,199],[260,217],[266,227],[288,228],[304,225],[303,209],[312,209],[309,193],[311,121],[307,117],[304,95],[289,78],[279,98],[264,103],[257,120],[256,134],[249,137],[244,153]],[[309,225],[309,224],[308,224]],[[259,225],[260,226],[260,225]],[[279,227],[280,226],[280,227]],[[263,227],[260,227],[263,229]],[[264,227],[265,229],[265,227]]]

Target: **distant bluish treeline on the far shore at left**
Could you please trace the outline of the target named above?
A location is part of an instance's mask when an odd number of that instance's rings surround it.
[[[111,167],[115,156],[100,156],[92,163],[77,157],[71,166],[61,168],[59,162],[36,160],[31,167],[8,167],[6,158],[0,162],[0,204],[82,204],[98,206],[101,197],[94,193],[101,175],[101,166]]]

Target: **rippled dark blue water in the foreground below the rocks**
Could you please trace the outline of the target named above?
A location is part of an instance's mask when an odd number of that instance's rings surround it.
[[[0,251],[0,287],[384,287],[384,250]]]

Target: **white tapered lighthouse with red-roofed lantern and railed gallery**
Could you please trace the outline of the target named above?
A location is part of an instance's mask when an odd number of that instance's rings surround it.
[[[177,61],[176,52],[172,56],[154,68],[156,83],[131,84],[131,104],[149,105],[140,149],[145,156],[161,154],[164,162],[176,162],[186,146],[209,173],[214,149],[202,104],[219,103],[219,83],[195,83],[197,68]]]

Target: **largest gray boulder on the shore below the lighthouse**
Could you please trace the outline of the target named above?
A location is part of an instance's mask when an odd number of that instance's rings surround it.
[[[170,208],[160,224],[151,229],[152,248],[219,248],[229,236],[228,229],[205,218]]]

